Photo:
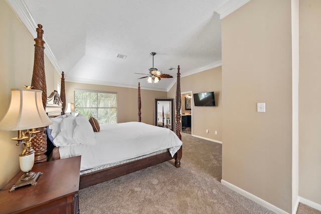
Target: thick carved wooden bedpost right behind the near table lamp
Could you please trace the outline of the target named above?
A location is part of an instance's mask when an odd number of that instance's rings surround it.
[[[44,109],[47,105],[47,85],[46,85],[46,74],[45,74],[45,57],[44,57],[44,44],[42,39],[44,31],[42,25],[38,24],[37,38],[34,39],[35,44],[35,59],[34,59],[34,71],[31,80],[31,86],[33,89],[42,91],[42,102]],[[32,147],[35,152],[35,163],[42,163],[47,161],[47,134],[46,127],[37,128],[39,131],[36,136],[31,140]]]

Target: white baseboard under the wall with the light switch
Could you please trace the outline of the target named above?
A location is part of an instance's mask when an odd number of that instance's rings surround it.
[[[241,188],[239,188],[239,187],[237,187],[237,186],[235,186],[235,185],[233,185],[233,184],[231,184],[231,183],[229,183],[229,182],[227,182],[227,181],[225,181],[223,179],[221,180],[221,183],[223,185],[227,186],[228,188],[236,191],[237,193],[240,193],[241,195],[253,200],[254,202],[260,204],[261,206],[264,206],[265,208],[267,208],[267,209],[269,209],[269,210],[271,210],[271,211],[273,211],[275,213],[288,214],[288,212],[286,212],[286,211],[274,206],[273,204],[271,204],[271,203],[269,203],[269,202],[267,202],[265,200],[262,200],[261,198],[255,196],[255,195],[253,195],[253,194],[251,194],[251,193],[249,193],[247,191],[244,191],[243,189],[241,189]]]

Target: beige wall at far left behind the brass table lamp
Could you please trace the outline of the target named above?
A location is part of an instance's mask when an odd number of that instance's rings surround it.
[[[36,31],[36,29],[35,29]],[[46,28],[44,27],[44,31]],[[30,85],[34,66],[34,38],[21,24],[15,13],[5,1],[0,1],[0,119],[10,105],[11,89]],[[47,90],[54,89],[54,82],[49,79],[54,76],[54,67],[45,57]],[[57,72],[56,72],[57,73]],[[19,153],[22,146],[16,146],[16,131],[0,131],[0,187],[5,185],[19,170]]]

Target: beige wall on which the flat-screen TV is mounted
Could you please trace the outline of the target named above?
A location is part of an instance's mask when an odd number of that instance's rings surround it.
[[[181,71],[183,69],[184,66],[181,67]],[[199,137],[222,142],[222,67],[182,77],[181,92],[188,91],[192,93],[214,91],[215,107],[195,107],[194,100],[192,100],[192,133]],[[168,98],[175,99],[175,93],[176,84],[168,92]],[[185,105],[185,101],[182,103]],[[206,133],[206,129],[209,129],[209,133]],[[215,135],[214,131],[218,134]]]

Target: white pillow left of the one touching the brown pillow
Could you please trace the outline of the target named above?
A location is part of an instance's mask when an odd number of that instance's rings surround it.
[[[74,134],[74,121],[75,116],[68,116],[64,118],[59,126],[59,133],[54,137],[54,143],[56,146],[67,146],[67,145],[79,145],[73,138]]]

